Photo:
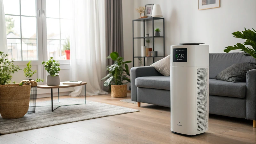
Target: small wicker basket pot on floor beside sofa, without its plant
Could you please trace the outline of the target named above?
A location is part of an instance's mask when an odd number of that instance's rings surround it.
[[[127,97],[127,85],[111,85],[111,97],[124,98]]]

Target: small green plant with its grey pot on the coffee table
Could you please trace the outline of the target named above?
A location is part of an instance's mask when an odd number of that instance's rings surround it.
[[[44,65],[45,70],[49,73],[46,77],[46,84],[47,85],[60,85],[60,76],[58,75],[60,71],[60,63],[59,61],[53,60],[51,57],[48,61],[43,61],[42,64]]]

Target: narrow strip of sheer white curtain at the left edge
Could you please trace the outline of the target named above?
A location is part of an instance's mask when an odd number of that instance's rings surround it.
[[[3,0],[0,0],[0,51],[8,53]]]

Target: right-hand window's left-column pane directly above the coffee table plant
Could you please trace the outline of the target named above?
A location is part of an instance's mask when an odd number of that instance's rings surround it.
[[[60,60],[60,40],[47,40],[47,52],[48,59],[53,57],[54,60]]]

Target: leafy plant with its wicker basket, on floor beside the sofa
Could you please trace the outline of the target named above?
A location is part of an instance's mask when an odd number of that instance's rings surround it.
[[[115,63],[111,66],[107,66],[109,72],[107,76],[101,80],[105,80],[104,86],[111,85],[111,97],[123,98],[127,96],[127,83],[131,80],[127,77],[130,76],[127,63],[132,61],[124,61],[124,58],[119,57],[117,52],[112,52],[107,59],[112,59]]]

